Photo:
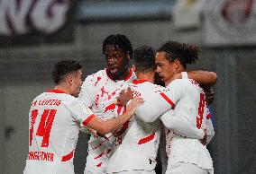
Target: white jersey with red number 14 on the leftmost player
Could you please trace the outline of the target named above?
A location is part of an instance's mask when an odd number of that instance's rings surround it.
[[[96,117],[85,103],[58,90],[41,93],[29,114],[29,153],[24,174],[74,174],[79,127]]]

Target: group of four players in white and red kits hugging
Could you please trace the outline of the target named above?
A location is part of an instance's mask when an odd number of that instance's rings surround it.
[[[156,51],[149,46],[133,51],[130,40],[117,34],[104,40],[102,51],[105,69],[88,75],[84,83],[77,61],[54,66],[54,89],[32,101],[23,173],[74,174],[82,130],[91,134],[85,174],[155,173],[159,146],[168,156],[163,173],[213,174],[206,144],[215,131],[207,109],[212,96],[206,98],[206,92],[216,74],[187,72],[200,48],[168,41]]]

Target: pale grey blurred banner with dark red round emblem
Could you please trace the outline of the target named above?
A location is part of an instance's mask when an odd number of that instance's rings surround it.
[[[255,0],[207,0],[204,14],[207,46],[256,44]]]

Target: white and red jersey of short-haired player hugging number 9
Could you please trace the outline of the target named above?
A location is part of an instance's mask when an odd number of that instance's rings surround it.
[[[167,104],[169,107],[165,110],[157,108],[160,109],[160,112],[164,113],[171,109],[165,94],[166,90],[163,87],[145,80],[134,80],[128,86],[133,91],[133,97],[142,97],[145,103],[151,101],[151,99],[161,98],[160,102],[164,101],[162,105],[166,106]],[[154,102],[159,101],[155,100]],[[153,108],[143,110],[141,117],[148,117],[151,109]],[[184,122],[182,117],[170,116],[169,118],[173,118],[172,122],[175,122],[176,125],[182,124],[183,127],[179,129],[188,137],[199,138],[202,136],[202,130],[194,129],[189,123]],[[149,123],[145,123],[142,120],[143,118],[140,119],[138,116],[130,119],[128,129],[123,134],[122,143],[114,148],[114,152],[110,156],[107,173],[125,173],[127,171],[133,171],[133,174],[141,173],[142,171],[144,173],[146,171],[154,173],[160,141],[160,119],[155,119]]]

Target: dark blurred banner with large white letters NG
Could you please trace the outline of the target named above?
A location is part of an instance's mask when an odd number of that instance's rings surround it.
[[[1,0],[0,47],[73,39],[72,0]]]

